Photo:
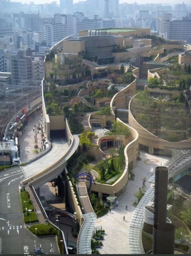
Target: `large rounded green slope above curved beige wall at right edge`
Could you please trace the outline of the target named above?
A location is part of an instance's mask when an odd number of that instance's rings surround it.
[[[191,116],[182,92],[170,100],[156,100],[141,91],[132,100],[131,112],[142,127],[161,139],[178,142],[191,138]]]

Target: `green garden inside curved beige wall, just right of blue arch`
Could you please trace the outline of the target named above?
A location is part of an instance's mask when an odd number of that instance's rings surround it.
[[[124,147],[121,147],[117,154],[118,156],[115,157],[116,149],[114,149],[111,159],[102,161],[101,163],[97,162],[96,166],[93,167],[98,173],[96,182],[112,185],[121,177],[125,169]]]

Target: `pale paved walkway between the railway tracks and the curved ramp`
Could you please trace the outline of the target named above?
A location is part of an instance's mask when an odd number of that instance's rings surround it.
[[[28,124],[25,127],[24,134],[19,136],[19,145],[20,145],[20,159],[21,162],[29,160],[30,158],[35,157],[37,154],[34,152],[34,136],[35,132],[33,131],[34,126],[39,123],[39,119],[42,117],[42,110],[39,112],[33,112],[29,116]],[[33,118],[34,116],[34,118]],[[41,149],[41,131],[37,132],[37,144],[38,150],[40,153]]]

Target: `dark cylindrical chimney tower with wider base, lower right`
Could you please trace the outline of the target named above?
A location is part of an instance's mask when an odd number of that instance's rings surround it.
[[[153,254],[174,254],[174,225],[167,223],[168,168],[155,168]]]

